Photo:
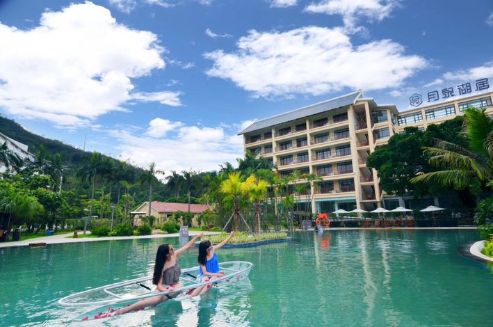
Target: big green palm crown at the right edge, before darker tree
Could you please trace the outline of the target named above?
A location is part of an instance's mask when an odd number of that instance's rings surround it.
[[[425,147],[431,157],[429,162],[444,170],[412,178],[411,182],[437,182],[464,189],[471,181],[486,185],[493,180],[493,119],[485,109],[469,108],[464,112],[464,134],[470,150],[461,145],[436,140],[435,147]]]

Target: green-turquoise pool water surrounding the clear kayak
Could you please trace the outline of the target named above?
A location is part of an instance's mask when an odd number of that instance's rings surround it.
[[[491,326],[492,267],[457,253],[475,230],[296,232],[292,241],[218,250],[248,280],[120,317],[73,323],[90,308],[58,298],[150,276],[159,244],[139,239],[0,250],[0,326]],[[195,266],[197,249],[181,255]],[[92,325],[91,325],[92,324]]]

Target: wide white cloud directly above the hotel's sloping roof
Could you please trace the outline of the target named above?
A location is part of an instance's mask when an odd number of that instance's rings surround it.
[[[207,74],[229,79],[255,97],[391,88],[428,64],[420,56],[406,55],[392,40],[356,47],[341,29],[316,26],[284,33],[250,31],[237,46],[230,54],[204,54],[213,61]]]

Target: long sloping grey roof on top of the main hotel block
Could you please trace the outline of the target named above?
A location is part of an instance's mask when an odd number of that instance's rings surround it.
[[[238,135],[250,133],[250,131],[257,131],[269,126],[279,125],[283,122],[290,122],[291,120],[297,120],[309,115],[316,115],[317,113],[323,113],[324,111],[348,106],[350,104],[354,104],[356,100],[361,96],[362,91],[357,90],[353,93],[348,93],[346,95],[341,95],[340,97],[334,97],[334,99],[319,102],[318,104],[311,104],[309,106],[304,106],[302,108],[289,111],[287,113],[281,113],[280,115],[275,115],[270,118],[258,120],[249,127],[243,129],[243,131],[241,131]]]

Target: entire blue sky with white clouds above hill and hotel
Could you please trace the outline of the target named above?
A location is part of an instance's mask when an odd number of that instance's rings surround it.
[[[492,77],[491,0],[0,0],[0,114],[167,174],[355,90],[405,111]]]

